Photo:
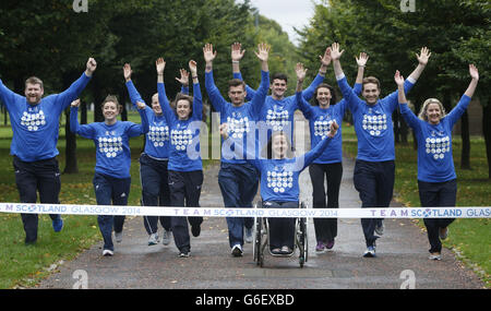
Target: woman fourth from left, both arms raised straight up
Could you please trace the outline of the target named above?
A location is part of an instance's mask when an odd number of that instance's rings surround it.
[[[164,85],[163,58],[156,61],[158,101],[169,125],[169,189],[171,206],[200,206],[203,165],[200,155],[200,127],[203,118],[203,103],[197,81],[196,62],[191,60],[189,68],[193,80],[193,96],[178,94],[175,109],[170,107]],[[203,217],[189,217],[191,232],[199,237]],[[171,217],[173,241],[180,258],[190,256],[191,241],[185,217]]]

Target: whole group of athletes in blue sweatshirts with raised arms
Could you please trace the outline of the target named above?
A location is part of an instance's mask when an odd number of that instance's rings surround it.
[[[228,84],[228,99],[216,87],[213,61],[216,51],[211,44],[203,48],[205,89],[213,108],[220,115],[221,160],[218,184],[225,207],[252,207],[261,184],[264,207],[296,208],[299,206],[300,172],[309,167],[313,188],[313,208],[338,208],[343,176],[342,121],[347,109],[352,115],[358,137],[358,154],[354,183],[361,207],[387,207],[392,201],[395,180],[395,148],[393,112],[399,108],[415,132],[418,144],[418,188],[421,206],[455,206],[456,174],[452,157],[452,128],[466,110],[476,89],[479,73],[469,64],[470,84],[452,111],[445,112],[435,98],[427,99],[418,116],[409,108],[406,93],[411,89],[430,59],[421,48],[416,55],[418,65],[407,79],[396,71],[397,89],[380,98],[380,82],[363,77],[369,57],[356,58],[358,74],[351,87],[343,72],[338,44],[327,47],[320,56],[319,73],[303,89],[307,69],[296,65],[296,94],[285,96],[288,77],[276,73],[270,77],[270,46],[260,44],[254,51],[261,62],[261,84],[258,89],[247,85],[240,74],[244,50],[239,43],[231,45],[233,79]],[[333,86],[324,83],[333,63],[343,99],[337,100]],[[200,206],[203,166],[200,157],[200,123],[204,120],[202,94],[196,62],[189,61],[192,96],[189,95],[189,72],[180,70],[181,92],[170,103],[166,94],[164,71],[166,62],[156,60],[157,93],[151,105],[145,104],[131,80],[130,64],[123,75],[131,103],[141,116],[141,124],[119,121],[122,106],[109,95],[101,104],[104,122],[79,124],[77,97],[89,82],[97,63],[89,58],[86,70],[67,91],[44,97],[43,81],[32,76],[25,81],[25,96],[10,91],[0,80],[0,99],[7,107],[13,130],[11,154],[15,182],[23,203],[59,203],[60,172],[57,162],[59,118],[71,107],[70,130],[94,141],[96,165],[93,179],[98,205],[127,205],[131,186],[131,153],[129,139],[145,135],[140,157],[144,206]],[[268,91],[271,89],[271,95]],[[360,98],[360,95],[363,99]],[[311,103],[309,103],[311,101]],[[151,107],[148,107],[151,106]],[[311,149],[298,155],[294,142],[294,113],[299,109],[309,120]],[[326,188],[325,188],[326,180]],[[37,240],[38,215],[21,214],[25,243]],[[50,215],[55,231],[61,231],[63,219]],[[191,252],[191,234],[200,236],[202,217],[144,216],[148,246],[159,243],[158,223],[164,232],[161,242],[173,237],[180,258]],[[241,256],[243,244],[252,241],[253,218],[227,217],[229,246],[232,256]],[[441,240],[448,234],[453,218],[424,218],[430,243],[430,259],[441,259]],[[122,240],[124,216],[98,215],[104,238],[103,255],[113,255],[115,244]],[[294,251],[295,219],[270,218],[270,251],[289,254]],[[367,249],[363,256],[376,255],[375,241],[384,234],[382,218],[361,218]],[[336,218],[314,218],[316,252],[332,250],[337,236]]]

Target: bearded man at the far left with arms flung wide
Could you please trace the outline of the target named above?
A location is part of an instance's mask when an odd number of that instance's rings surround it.
[[[32,76],[25,81],[24,95],[13,93],[0,80],[0,99],[9,111],[12,123],[12,144],[15,182],[22,203],[36,203],[39,192],[40,203],[58,204],[60,193],[60,170],[56,156],[59,119],[61,112],[82,93],[96,70],[93,58],[86,70],[67,91],[43,98],[43,81]],[[61,231],[63,220],[60,215],[50,214],[56,232]],[[25,243],[37,240],[37,214],[21,214],[25,230]]]

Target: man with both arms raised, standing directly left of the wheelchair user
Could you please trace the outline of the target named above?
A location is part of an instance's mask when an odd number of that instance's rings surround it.
[[[221,97],[213,81],[213,60],[216,51],[213,51],[212,45],[206,45],[203,55],[206,61],[206,92],[213,107],[220,113],[220,123],[228,123],[228,135],[233,141],[232,147],[227,147],[230,144],[224,144],[221,148],[218,183],[224,196],[224,204],[226,207],[251,207],[252,200],[258,192],[259,177],[255,168],[246,158],[248,149],[255,148],[254,121],[258,120],[270,86],[267,65],[270,46],[261,44],[255,52],[261,61],[261,86],[252,100],[248,103],[246,103],[246,84],[238,79],[229,81],[228,96],[231,103]],[[227,225],[231,253],[233,256],[241,256],[243,228],[251,231],[252,218],[227,217]]]

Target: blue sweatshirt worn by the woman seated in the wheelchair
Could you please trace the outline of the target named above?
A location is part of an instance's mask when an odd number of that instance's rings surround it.
[[[325,137],[313,149],[300,157],[250,160],[261,172],[261,198],[263,201],[298,202],[300,172],[319,157],[331,142],[331,137]]]

